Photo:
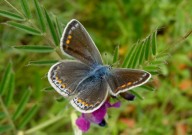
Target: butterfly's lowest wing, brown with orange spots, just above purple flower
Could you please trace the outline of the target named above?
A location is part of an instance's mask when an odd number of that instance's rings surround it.
[[[104,78],[88,77],[77,86],[78,94],[71,100],[71,104],[80,112],[91,113],[105,102],[108,95],[107,87]]]

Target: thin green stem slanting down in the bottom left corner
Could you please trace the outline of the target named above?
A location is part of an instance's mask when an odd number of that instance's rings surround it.
[[[5,113],[5,115],[7,116],[7,119],[8,119],[8,122],[9,124],[12,126],[13,128],[13,133],[16,134],[17,130],[16,130],[16,127],[15,127],[15,124],[13,123],[12,119],[11,119],[11,116],[2,100],[2,97],[0,96],[0,104],[2,106],[2,109],[3,109],[3,112]]]

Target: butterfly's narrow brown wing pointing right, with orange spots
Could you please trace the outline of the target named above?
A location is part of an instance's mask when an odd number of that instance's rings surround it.
[[[106,78],[111,94],[117,96],[121,92],[145,84],[150,77],[150,73],[143,70],[117,68],[112,69]]]

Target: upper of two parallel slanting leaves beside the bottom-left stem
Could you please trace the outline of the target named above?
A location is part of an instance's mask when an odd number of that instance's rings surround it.
[[[25,93],[23,94],[23,96],[21,97],[17,110],[13,114],[13,120],[16,120],[24,111],[25,106],[26,106],[27,102],[29,101],[30,94],[31,94],[30,90],[27,89],[25,91]]]

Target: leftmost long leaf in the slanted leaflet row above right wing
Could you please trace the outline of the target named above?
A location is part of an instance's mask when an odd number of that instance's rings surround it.
[[[128,67],[128,65],[129,65],[129,63],[130,63],[130,61],[131,61],[131,57],[132,57],[133,54],[134,54],[135,48],[136,48],[136,45],[133,45],[133,46],[130,48],[129,52],[127,53],[127,56],[125,57],[125,60],[123,61],[122,67],[124,67],[124,68],[127,68],[127,67]]]

